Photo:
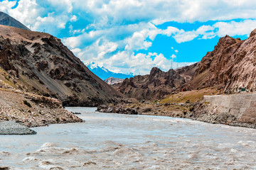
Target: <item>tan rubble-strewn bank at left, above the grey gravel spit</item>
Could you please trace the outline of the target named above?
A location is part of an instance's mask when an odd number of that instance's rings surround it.
[[[0,121],[9,120],[30,128],[82,122],[78,116],[66,111],[58,99],[0,88]]]

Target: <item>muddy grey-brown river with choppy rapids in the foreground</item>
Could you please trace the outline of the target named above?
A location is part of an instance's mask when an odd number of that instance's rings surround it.
[[[10,169],[256,169],[256,130],[151,115],[67,108],[85,123],[0,136]]]

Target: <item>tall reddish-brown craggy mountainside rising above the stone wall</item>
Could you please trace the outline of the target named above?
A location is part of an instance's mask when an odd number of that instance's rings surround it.
[[[246,40],[220,38],[212,52],[201,60],[191,86],[221,86],[226,93],[238,93],[241,89],[256,89],[256,30]],[[198,80],[201,77],[201,82]]]

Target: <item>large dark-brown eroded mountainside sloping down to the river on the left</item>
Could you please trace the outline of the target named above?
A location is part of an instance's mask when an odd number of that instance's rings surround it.
[[[65,106],[97,106],[124,97],[46,33],[0,26],[0,66],[22,82],[18,89],[58,98]]]

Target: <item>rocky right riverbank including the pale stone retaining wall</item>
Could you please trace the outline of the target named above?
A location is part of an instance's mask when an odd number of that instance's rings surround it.
[[[206,123],[256,128],[256,94],[232,94],[203,96],[201,101],[191,103],[123,103],[99,106],[104,113],[164,115],[189,118]]]

